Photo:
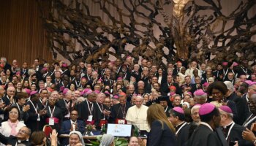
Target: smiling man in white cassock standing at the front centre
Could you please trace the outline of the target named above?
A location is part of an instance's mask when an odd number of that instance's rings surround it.
[[[142,104],[143,97],[137,96],[135,99],[135,105],[129,107],[127,111],[126,120],[128,124],[138,126],[140,130],[149,131],[147,123],[147,110],[148,107]]]

